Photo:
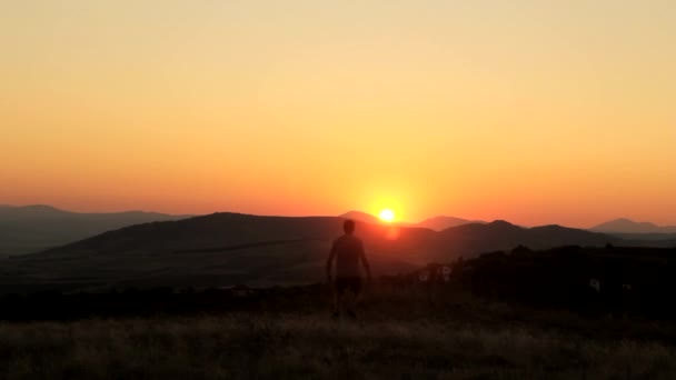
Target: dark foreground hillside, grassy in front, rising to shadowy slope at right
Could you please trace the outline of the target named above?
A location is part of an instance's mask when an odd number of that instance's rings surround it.
[[[377,279],[357,320],[330,318],[319,283],[11,294],[0,366],[10,379],[672,379],[674,253],[491,252],[447,278]]]

